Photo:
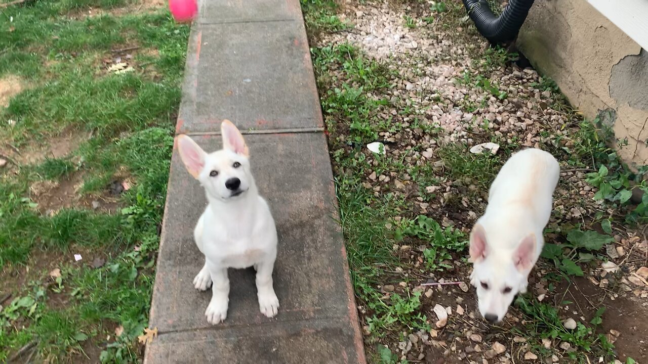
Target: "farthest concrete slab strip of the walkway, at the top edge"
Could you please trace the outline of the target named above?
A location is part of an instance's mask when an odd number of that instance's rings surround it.
[[[297,0],[206,0],[199,6],[200,24],[302,19]]]

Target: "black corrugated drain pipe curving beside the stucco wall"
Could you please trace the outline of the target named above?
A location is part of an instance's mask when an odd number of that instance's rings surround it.
[[[513,41],[524,24],[533,0],[509,0],[499,17],[494,16],[486,0],[461,0],[477,30],[491,44]]]

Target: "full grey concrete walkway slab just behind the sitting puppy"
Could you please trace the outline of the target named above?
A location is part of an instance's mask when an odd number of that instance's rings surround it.
[[[305,34],[301,19],[195,26],[177,131],[323,128]]]

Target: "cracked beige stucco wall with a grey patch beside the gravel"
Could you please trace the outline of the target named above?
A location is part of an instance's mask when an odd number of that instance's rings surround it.
[[[648,165],[648,52],[585,0],[536,0],[516,44],[586,118],[612,125],[625,161]]]

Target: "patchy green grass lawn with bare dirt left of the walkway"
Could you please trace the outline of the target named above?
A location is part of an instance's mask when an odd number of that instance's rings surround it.
[[[162,2],[2,8],[0,361],[141,358],[188,34]]]

